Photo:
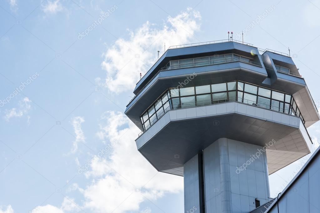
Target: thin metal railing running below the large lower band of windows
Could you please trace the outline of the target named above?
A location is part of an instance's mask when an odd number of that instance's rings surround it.
[[[238,102],[238,103],[243,103],[243,104],[247,104],[247,105],[252,105],[255,107],[260,107],[260,108],[264,108],[264,109],[269,109],[272,111],[277,111],[279,113],[283,113],[283,114],[289,114],[295,117],[299,117],[299,115],[297,113],[292,113],[289,110],[285,109],[285,108],[280,108],[280,107],[274,107],[272,105],[268,105],[268,104],[264,104],[264,103],[259,103],[257,101],[252,101],[252,100],[248,100],[248,99],[243,99],[243,98],[236,98],[236,97],[232,97],[232,98],[223,98],[223,99],[213,99],[213,100],[202,100],[202,101],[192,101],[192,102],[187,102],[187,103],[182,103],[182,104],[175,104],[175,105],[170,105],[169,107],[167,107],[164,112],[162,112],[159,116],[157,116],[155,118],[155,120],[151,121],[150,124],[145,127],[144,131],[141,131],[138,134],[138,137],[140,137],[145,131],[147,131],[153,124],[156,123],[156,121],[158,121],[166,112],[170,111],[170,110],[176,110],[176,109],[183,109],[183,108],[190,108],[190,107],[201,107],[201,106],[208,106],[208,105],[214,105],[214,104],[221,104],[221,103],[226,103],[226,102]],[[302,118],[301,118],[302,119]]]

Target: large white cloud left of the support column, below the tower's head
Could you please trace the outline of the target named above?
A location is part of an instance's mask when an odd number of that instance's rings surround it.
[[[84,208],[93,212],[135,211],[146,199],[182,191],[182,177],[158,173],[137,151],[134,138],[140,130],[124,114],[110,111],[102,119],[105,123],[98,135],[117,143],[106,158],[93,163],[86,172],[86,177],[93,180],[85,189],[78,188],[85,197]]]

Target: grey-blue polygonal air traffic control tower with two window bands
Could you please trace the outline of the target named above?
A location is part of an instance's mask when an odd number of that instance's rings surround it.
[[[185,212],[250,212],[268,175],[310,153],[314,101],[292,58],[239,41],[170,47],[125,114],[140,153],[184,177]]]

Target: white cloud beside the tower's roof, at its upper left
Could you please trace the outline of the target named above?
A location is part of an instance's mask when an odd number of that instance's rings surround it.
[[[101,66],[106,70],[105,82],[109,91],[120,93],[132,91],[140,79],[157,60],[160,54],[170,45],[189,42],[193,34],[199,30],[201,19],[199,12],[188,8],[175,17],[169,17],[163,26],[146,22],[134,32],[130,31],[129,39],[119,38],[115,44],[103,54]]]

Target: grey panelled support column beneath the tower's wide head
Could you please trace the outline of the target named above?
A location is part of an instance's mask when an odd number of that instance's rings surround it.
[[[185,212],[199,209],[201,197],[206,213],[249,213],[256,208],[256,199],[260,204],[268,202],[267,156],[262,146],[220,138],[204,149],[203,169],[199,165],[199,155],[184,165]]]

